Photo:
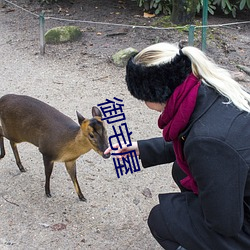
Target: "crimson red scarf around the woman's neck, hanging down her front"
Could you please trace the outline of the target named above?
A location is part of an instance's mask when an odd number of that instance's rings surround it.
[[[179,135],[188,125],[194,111],[199,86],[200,80],[191,73],[174,90],[158,120],[159,128],[163,129],[164,139],[173,142],[176,161],[187,174],[187,177],[181,180],[181,184],[195,194],[198,194],[198,187],[185,160]]]

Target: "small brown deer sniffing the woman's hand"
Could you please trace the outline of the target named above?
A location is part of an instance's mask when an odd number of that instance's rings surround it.
[[[77,112],[80,126],[60,111],[29,96],[9,94],[0,98],[0,158],[5,156],[3,137],[9,139],[16,164],[20,161],[17,143],[29,142],[39,148],[45,167],[45,193],[50,194],[50,176],[54,162],[64,162],[81,201],[83,196],[76,176],[76,160],[94,149],[104,158],[108,147],[107,131],[101,120],[101,111],[92,107],[93,118],[86,119]]]

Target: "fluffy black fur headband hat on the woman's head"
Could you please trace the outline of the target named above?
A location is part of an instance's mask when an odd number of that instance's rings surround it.
[[[171,62],[154,66],[135,64],[134,56],[126,66],[126,82],[131,95],[142,101],[165,103],[192,71],[190,59],[182,52]]]

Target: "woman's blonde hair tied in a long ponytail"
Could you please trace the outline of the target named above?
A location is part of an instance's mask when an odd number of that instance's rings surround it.
[[[180,51],[176,44],[157,43],[138,53],[134,62],[145,66],[160,65],[170,62],[181,52],[190,59],[193,74],[228,99],[225,104],[233,103],[238,109],[250,113],[250,94],[231,77],[227,70],[215,64],[195,47],[187,46]]]

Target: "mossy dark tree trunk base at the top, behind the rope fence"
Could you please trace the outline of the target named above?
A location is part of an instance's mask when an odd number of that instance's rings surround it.
[[[173,0],[171,22],[178,25],[192,24],[198,0]]]

